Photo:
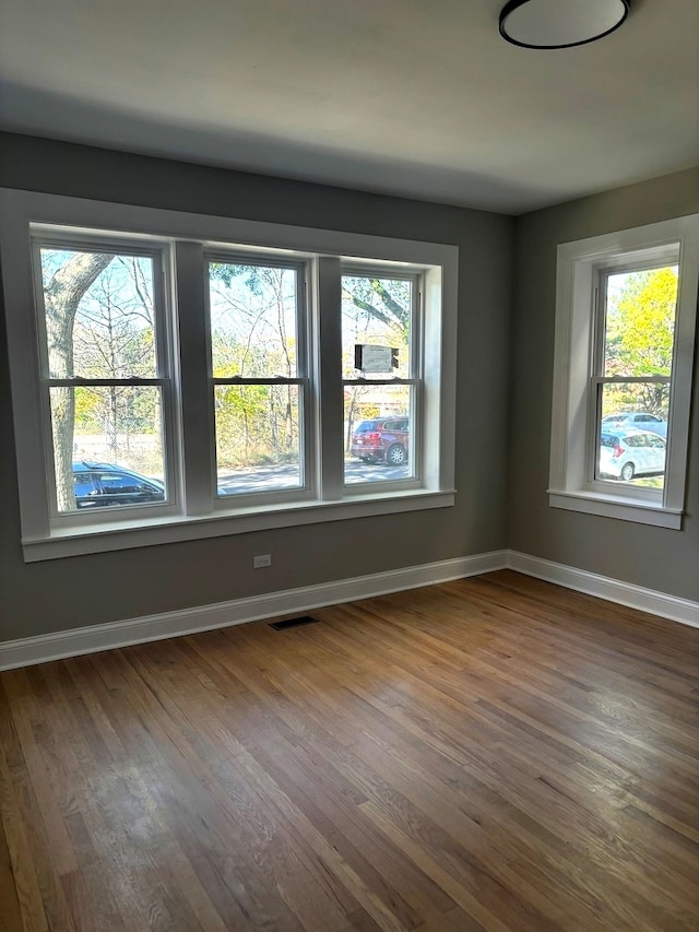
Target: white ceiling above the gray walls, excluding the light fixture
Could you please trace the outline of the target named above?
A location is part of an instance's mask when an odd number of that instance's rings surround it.
[[[0,0],[0,126],[507,213],[699,163],[699,0],[559,51],[503,2]]]

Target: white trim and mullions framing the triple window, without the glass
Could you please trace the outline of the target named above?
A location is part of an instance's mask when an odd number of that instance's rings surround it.
[[[226,510],[215,508],[205,515],[206,503],[197,500],[193,491],[185,487],[187,514],[182,509],[177,515],[162,511],[158,515],[153,512],[152,517],[139,515],[137,518],[134,515],[132,523],[125,516],[114,523],[85,526],[78,522],[70,528],[51,527],[46,483],[47,451],[40,427],[31,225],[56,226],[62,233],[72,228],[76,234],[108,229],[122,234],[130,241],[140,236],[146,240],[178,240],[178,261],[187,257],[191,240],[204,244],[205,251],[235,246],[237,250],[280,250],[280,255],[289,258],[317,256],[316,280],[311,286],[325,293],[332,285],[323,275],[323,269],[337,268],[340,261],[364,266],[378,261],[384,267],[393,264],[396,269],[423,271],[425,456],[420,487],[363,487],[347,494],[340,479],[334,488],[324,483],[323,500],[284,502],[269,504],[264,508],[259,505],[236,507],[232,503]],[[0,189],[0,257],[4,273],[22,545],[26,562],[453,505],[458,247]],[[339,295],[336,298],[339,303]],[[340,320],[336,326],[340,326]],[[322,332],[318,334],[321,343],[323,339]],[[316,401],[320,423],[324,425],[337,421],[336,413],[342,408],[342,392],[335,399],[330,391],[333,381],[340,385],[340,371],[323,382],[321,397]],[[325,427],[325,432],[324,448],[337,447],[337,462],[334,463],[337,471],[342,417],[330,430]],[[196,432],[192,437],[194,435]],[[194,447],[191,450],[186,448],[185,455],[194,456]],[[332,463],[324,462],[320,469],[330,470],[332,467]]]

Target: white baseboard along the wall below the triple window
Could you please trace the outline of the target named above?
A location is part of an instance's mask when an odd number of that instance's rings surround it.
[[[507,564],[507,551],[494,551],[388,573],[376,573],[370,576],[358,576],[354,579],[341,579],[320,586],[306,586],[283,592],[271,592],[266,595],[235,599],[214,605],[201,605],[142,618],[129,618],[123,622],[109,622],[104,625],[21,638],[0,644],[0,670],[12,670],[17,666],[44,663],[47,660],[60,660],[64,657],[94,653],[115,647],[213,630],[260,618],[303,614],[323,605],[369,599],[372,595],[386,595],[403,589],[415,589],[419,586],[431,586],[435,582],[448,582],[450,579],[491,573],[495,569],[505,569]]]

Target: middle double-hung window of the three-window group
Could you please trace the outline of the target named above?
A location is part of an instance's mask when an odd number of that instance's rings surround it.
[[[206,257],[218,498],[311,485],[306,266]]]

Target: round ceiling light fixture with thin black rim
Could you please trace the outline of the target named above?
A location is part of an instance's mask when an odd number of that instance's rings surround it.
[[[500,13],[500,35],[524,48],[572,48],[617,30],[630,0],[510,0]]]

